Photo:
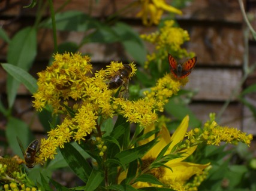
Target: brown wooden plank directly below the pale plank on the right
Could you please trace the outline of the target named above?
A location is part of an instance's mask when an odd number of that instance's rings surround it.
[[[209,120],[209,113],[219,113],[224,103],[209,103],[201,102],[189,104],[189,108],[197,116],[198,119],[204,124]],[[221,116],[221,121],[218,122],[219,125],[234,127],[239,130],[242,128],[242,104],[232,103],[230,104],[223,115]]]

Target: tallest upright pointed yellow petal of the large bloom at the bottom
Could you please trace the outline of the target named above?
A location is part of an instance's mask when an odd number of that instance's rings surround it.
[[[177,130],[173,133],[171,136],[171,144],[169,149],[173,149],[173,147],[179,143],[180,141],[183,140],[186,130],[188,130],[188,121],[189,121],[189,116],[186,115],[185,118],[182,120],[181,124],[177,128]]]

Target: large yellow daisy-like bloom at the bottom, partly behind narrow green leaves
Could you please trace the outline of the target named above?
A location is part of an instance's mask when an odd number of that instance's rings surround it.
[[[162,126],[162,129],[160,133],[158,134],[159,142],[155,144],[155,146],[152,147],[152,149],[149,150],[149,152],[146,153],[146,155],[143,156],[141,159],[143,164],[141,167],[141,170],[154,175],[156,178],[158,178],[159,181],[161,181],[163,184],[167,185],[171,189],[174,190],[184,190],[184,186],[186,184],[186,181],[189,180],[189,178],[192,177],[192,175],[195,174],[201,174],[204,170],[204,168],[208,167],[210,164],[194,164],[191,162],[183,162],[188,156],[192,155],[192,153],[197,149],[197,146],[194,147],[188,147],[184,149],[180,149],[179,147],[176,147],[178,143],[180,143],[186,133],[186,130],[188,129],[188,120],[189,117],[186,116],[177,130],[174,132],[174,134],[170,137],[170,133],[167,130],[167,128]],[[147,133],[149,131],[152,131],[154,129],[154,126],[150,126],[144,130],[144,133]],[[147,138],[147,140],[140,141],[141,144],[146,144],[149,141],[153,140],[153,136]],[[155,161],[156,156],[158,156],[159,152],[168,144],[171,143],[168,147],[167,151],[165,152],[165,155],[167,154],[177,154],[180,155],[179,158],[172,159],[165,163],[167,167],[158,167],[158,168],[152,168],[150,169],[150,164]],[[125,173],[122,172],[119,176],[119,182],[121,182],[125,178]],[[139,188],[139,187],[149,187],[149,186],[156,186],[152,185],[150,183],[145,182],[136,182],[135,184],[132,184],[132,186]],[[199,184],[198,184],[199,186]]]

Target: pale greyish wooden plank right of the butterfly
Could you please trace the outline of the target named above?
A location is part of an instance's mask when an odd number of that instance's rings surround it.
[[[194,100],[225,101],[241,81],[242,71],[231,69],[201,69],[195,67],[185,89],[197,90]],[[241,88],[238,90],[241,91]],[[232,100],[236,100],[233,98]]]

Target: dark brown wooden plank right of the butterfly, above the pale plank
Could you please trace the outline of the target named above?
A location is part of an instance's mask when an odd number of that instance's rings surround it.
[[[198,63],[210,66],[241,66],[243,61],[242,29],[234,27],[192,27],[188,50]]]

